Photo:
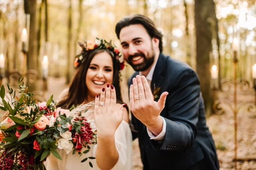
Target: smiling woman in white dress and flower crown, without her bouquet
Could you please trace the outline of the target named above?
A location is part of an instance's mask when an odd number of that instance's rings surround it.
[[[89,145],[86,154],[58,152],[62,160],[48,156],[47,170],[131,170],[132,135],[128,124],[128,107],[122,102],[119,85],[119,71],[123,63],[118,60],[120,53],[111,43],[103,39],[87,41],[80,55],[76,56],[77,68],[70,87],[60,95],[59,107],[69,109],[82,103],[95,101],[82,116],[97,130],[97,144]],[[85,150],[85,149],[84,149]],[[83,152],[83,150],[81,151]],[[86,157],[88,161],[81,162]]]

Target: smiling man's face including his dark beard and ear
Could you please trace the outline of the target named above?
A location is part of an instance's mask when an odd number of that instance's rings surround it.
[[[124,59],[135,71],[145,71],[154,63],[158,39],[151,38],[141,24],[121,29],[120,42]]]

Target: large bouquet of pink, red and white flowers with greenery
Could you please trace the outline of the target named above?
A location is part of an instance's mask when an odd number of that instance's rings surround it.
[[[19,84],[19,95],[8,84],[9,93],[4,86],[0,88],[0,109],[7,111],[0,123],[1,170],[45,169],[43,161],[48,155],[62,160],[56,149],[65,150],[66,154],[72,150],[73,154],[89,152],[89,144],[96,143],[96,134],[86,118],[79,115],[94,103],[82,104],[72,111],[56,108],[52,96],[48,102],[36,103],[22,80]],[[84,152],[82,147],[86,148]]]

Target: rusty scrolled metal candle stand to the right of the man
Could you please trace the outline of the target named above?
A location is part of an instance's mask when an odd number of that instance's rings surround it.
[[[237,156],[237,149],[238,149],[238,140],[237,140],[237,129],[238,129],[238,125],[237,125],[237,114],[240,111],[240,109],[242,107],[247,106],[248,111],[252,112],[255,111],[256,109],[256,79],[254,79],[254,90],[255,90],[255,100],[249,100],[240,104],[237,104],[237,87],[240,87],[240,90],[246,92],[248,90],[250,90],[250,82],[248,80],[246,80],[245,78],[237,78],[237,63],[238,63],[238,59],[237,59],[237,52],[234,51],[234,79],[230,79],[230,78],[224,78],[221,80],[220,84],[221,84],[221,90],[223,92],[230,92],[231,91],[231,87],[234,87],[234,93],[233,93],[233,98],[234,98],[234,103],[228,101],[228,100],[224,100],[224,99],[218,99],[214,102],[213,104],[213,111],[216,114],[223,114],[225,112],[225,110],[229,109],[230,111],[232,111],[232,113],[234,114],[234,163],[235,163],[235,170],[237,169],[236,166],[236,161],[238,160],[248,160],[247,158],[238,158]],[[256,158],[252,158],[250,160],[256,160]]]

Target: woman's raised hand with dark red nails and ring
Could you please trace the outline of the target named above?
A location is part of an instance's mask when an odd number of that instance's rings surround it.
[[[99,137],[113,137],[122,122],[124,106],[116,107],[116,90],[110,84],[95,97],[94,119]]]

